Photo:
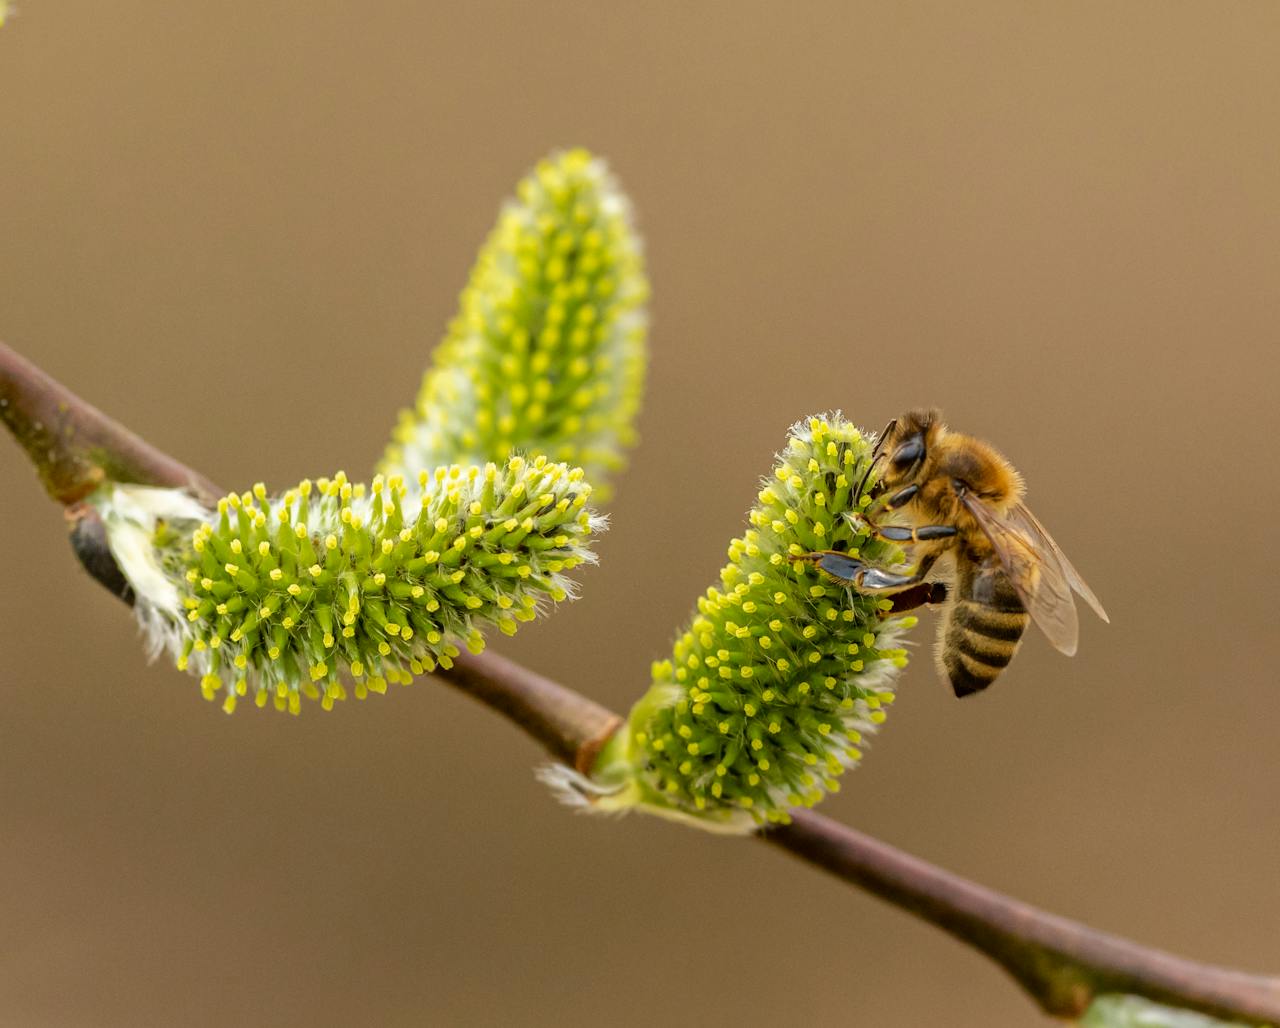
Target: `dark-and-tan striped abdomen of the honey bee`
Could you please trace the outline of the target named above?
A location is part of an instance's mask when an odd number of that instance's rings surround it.
[[[960,566],[938,638],[938,661],[957,696],[991,685],[1014,659],[1030,616],[995,559]]]

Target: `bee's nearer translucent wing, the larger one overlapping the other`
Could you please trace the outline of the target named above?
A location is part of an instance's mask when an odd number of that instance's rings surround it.
[[[1020,503],[1000,515],[973,494],[961,497],[965,510],[991,540],[1018,598],[1050,643],[1068,657],[1075,653],[1079,620],[1071,582],[1057,557],[1057,547],[1043,529],[1030,527],[1030,512]],[[1032,518],[1034,521],[1034,518]],[[1046,543],[1047,540],[1047,543]]]

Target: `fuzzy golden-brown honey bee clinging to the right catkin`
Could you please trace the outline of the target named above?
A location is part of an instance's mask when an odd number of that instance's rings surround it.
[[[867,474],[882,461],[876,499],[865,513],[850,517],[881,539],[910,547],[915,567],[873,567],[836,550],[791,559],[813,563],[860,593],[887,595],[895,611],[941,602],[937,666],[957,696],[979,693],[998,677],[1029,620],[1057,649],[1074,654],[1079,625],[1073,590],[1110,621],[1027,510],[1021,475],[991,446],[948,431],[937,411],[909,411],[881,434]],[[900,511],[911,524],[878,524],[881,511]],[[950,588],[927,581],[940,558],[951,565]]]

